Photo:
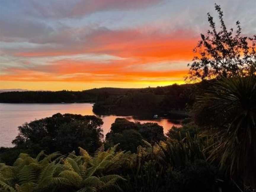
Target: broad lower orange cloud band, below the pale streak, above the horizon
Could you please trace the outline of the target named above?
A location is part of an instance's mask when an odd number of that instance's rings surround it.
[[[26,68],[7,68],[1,81],[171,81],[183,80],[187,73],[184,67],[172,68],[172,64],[163,63],[158,71],[145,68],[154,63],[144,63],[143,60],[113,60],[108,63],[95,61],[59,60],[48,65]],[[178,63],[179,65],[179,63]],[[141,66],[141,68],[140,68]],[[170,66],[169,70],[166,70]]]

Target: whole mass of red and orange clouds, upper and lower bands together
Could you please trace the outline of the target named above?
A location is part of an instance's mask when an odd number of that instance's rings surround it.
[[[82,30],[83,31],[83,30]],[[63,32],[66,33],[65,31]],[[1,81],[56,81],[56,82],[183,82],[187,74],[186,63],[193,57],[193,47],[197,38],[192,31],[162,33],[143,30],[92,30],[92,33],[79,36],[79,42],[72,42],[67,36],[68,45],[59,44],[57,48],[34,48],[15,52],[18,58],[49,58],[47,63],[9,67],[4,70]],[[62,42],[54,36],[56,43]],[[84,39],[83,39],[84,38]],[[36,40],[34,40],[36,41]],[[49,39],[40,39],[48,42]],[[118,56],[119,60],[107,62],[75,60],[78,54]],[[52,60],[51,57],[68,56],[68,59]],[[154,70],[156,66],[157,70]]]

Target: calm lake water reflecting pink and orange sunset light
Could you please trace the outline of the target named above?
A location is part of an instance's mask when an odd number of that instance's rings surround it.
[[[92,112],[91,103],[65,103],[65,104],[7,104],[0,103],[0,147],[11,147],[12,140],[18,135],[17,127],[24,122],[30,122],[35,119],[41,119],[52,116],[55,113],[73,113],[81,115],[95,115]],[[103,119],[104,135],[108,133],[111,124],[117,117],[123,116],[98,116]],[[140,121],[141,123],[155,122],[164,127],[164,132],[167,132],[173,125],[180,127],[179,124],[174,124],[168,119],[151,119],[137,120],[132,116],[123,118],[129,121]]]

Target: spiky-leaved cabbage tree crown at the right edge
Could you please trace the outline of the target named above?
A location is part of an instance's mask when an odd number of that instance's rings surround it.
[[[256,187],[256,76],[223,78],[196,106],[197,122],[207,127],[202,135],[215,140],[208,159],[232,179]]]

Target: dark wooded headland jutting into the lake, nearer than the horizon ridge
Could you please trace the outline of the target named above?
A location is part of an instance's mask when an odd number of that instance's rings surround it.
[[[136,115],[170,117],[184,119],[189,116],[189,108],[195,98],[204,93],[214,81],[195,84],[173,84],[164,87],[135,89],[121,95],[103,92],[93,106],[96,114],[114,114],[119,116]]]

